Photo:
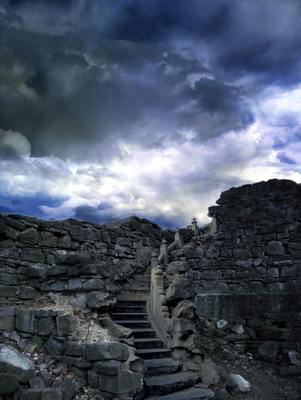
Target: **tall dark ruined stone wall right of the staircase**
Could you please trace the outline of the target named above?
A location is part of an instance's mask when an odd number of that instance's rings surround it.
[[[301,186],[276,179],[244,185],[217,204],[208,214],[217,233],[187,252],[197,314],[259,326],[268,320],[301,342]]]

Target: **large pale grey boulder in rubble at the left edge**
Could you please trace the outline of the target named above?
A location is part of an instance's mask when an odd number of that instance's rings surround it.
[[[14,375],[19,382],[27,382],[35,373],[35,364],[12,346],[0,349],[0,369]]]

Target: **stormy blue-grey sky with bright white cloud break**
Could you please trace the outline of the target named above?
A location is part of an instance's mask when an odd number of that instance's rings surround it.
[[[0,212],[165,228],[301,183],[299,0],[3,0]]]

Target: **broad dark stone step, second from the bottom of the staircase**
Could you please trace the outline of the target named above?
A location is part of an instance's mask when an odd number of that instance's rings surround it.
[[[184,371],[161,376],[146,376],[145,391],[149,396],[170,394],[176,390],[193,386],[200,379],[196,372]],[[187,400],[186,397],[182,397],[182,399]]]

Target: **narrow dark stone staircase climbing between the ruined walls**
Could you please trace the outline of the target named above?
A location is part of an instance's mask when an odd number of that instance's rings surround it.
[[[199,386],[200,377],[195,372],[182,371],[183,365],[172,358],[156,337],[146,313],[150,273],[135,276],[117,295],[112,319],[131,328],[136,355],[145,360],[145,398],[152,400],[208,400],[214,398],[212,390]]]

